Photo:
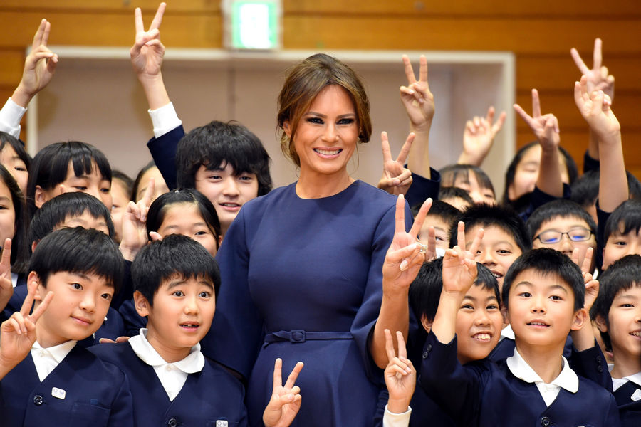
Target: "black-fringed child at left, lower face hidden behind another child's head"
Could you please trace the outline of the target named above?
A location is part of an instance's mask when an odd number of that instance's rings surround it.
[[[33,157],[27,183],[27,205],[33,216],[44,202],[80,191],[111,209],[111,167],[105,154],[85,142],[47,145]]]

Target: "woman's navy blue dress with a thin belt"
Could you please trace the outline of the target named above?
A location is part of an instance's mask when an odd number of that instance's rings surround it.
[[[296,184],[246,203],[217,255],[222,287],[202,352],[249,378],[261,425],[273,364],[298,361],[303,403],[292,426],[372,426],[382,371],[368,351],[396,197],[362,181],[301,199]],[[405,209],[406,226],[411,223]]]

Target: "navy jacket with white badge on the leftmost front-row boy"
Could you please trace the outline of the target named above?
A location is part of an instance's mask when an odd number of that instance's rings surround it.
[[[123,371],[78,345],[42,382],[30,352],[0,381],[0,388],[4,427],[133,425]]]

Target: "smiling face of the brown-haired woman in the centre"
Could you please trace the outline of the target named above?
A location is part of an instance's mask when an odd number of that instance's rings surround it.
[[[358,123],[354,104],[345,89],[326,86],[301,117],[296,135],[291,135],[289,122],[285,122],[284,129],[301,159],[301,176],[347,173],[358,141]]]

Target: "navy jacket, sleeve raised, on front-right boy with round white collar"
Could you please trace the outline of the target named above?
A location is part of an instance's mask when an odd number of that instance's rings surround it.
[[[461,366],[457,339],[427,337],[419,384],[461,426],[620,426],[614,396],[579,376],[578,391],[560,389],[546,406],[536,384],[516,378],[505,360]]]

